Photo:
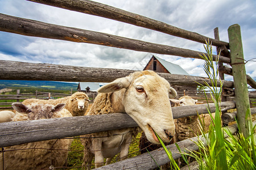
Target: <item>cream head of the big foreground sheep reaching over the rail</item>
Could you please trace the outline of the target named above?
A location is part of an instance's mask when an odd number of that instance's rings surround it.
[[[177,95],[166,79],[154,71],[137,71],[98,89],[98,92],[121,92],[120,101],[145,132],[148,141],[159,143],[155,133],[168,142],[175,134],[169,98]]]

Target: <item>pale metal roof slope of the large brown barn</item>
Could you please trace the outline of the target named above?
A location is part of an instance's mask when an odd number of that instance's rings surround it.
[[[187,73],[187,71],[185,71],[185,70],[184,70],[182,67],[180,67],[179,65],[176,65],[176,64],[174,64],[174,63],[165,61],[164,59],[159,58],[159,57],[156,57],[156,56],[153,56],[153,57],[155,57],[155,58],[166,68],[166,70],[168,70],[171,74],[189,75],[189,74]]]

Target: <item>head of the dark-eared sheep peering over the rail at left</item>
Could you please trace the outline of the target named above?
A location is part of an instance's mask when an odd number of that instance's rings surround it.
[[[65,103],[60,103],[55,106],[50,104],[36,104],[24,105],[22,103],[13,103],[13,108],[19,113],[25,113],[28,120],[39,120],[52,118],[53,113],[61,111],[65,107]]]

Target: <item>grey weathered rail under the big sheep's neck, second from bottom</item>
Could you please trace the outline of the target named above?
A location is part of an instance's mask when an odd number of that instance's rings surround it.
[[[193,116],[197,115],[197,113],[208,113],[207,106],[207,104],[200,104],[174,107],[172,108],[172,113],[174,114],[174,118]],[[235,108],[235,104],[231,101],[221,103],[222,111],[233,108]],[[209,109],[214,112],[215,105],[210,103]],[[74,137],[76,135],[134,126],[138,126],[137,123],[126,113],[6,122],[0,124],[0,147],[45,141],[48,139]]]

